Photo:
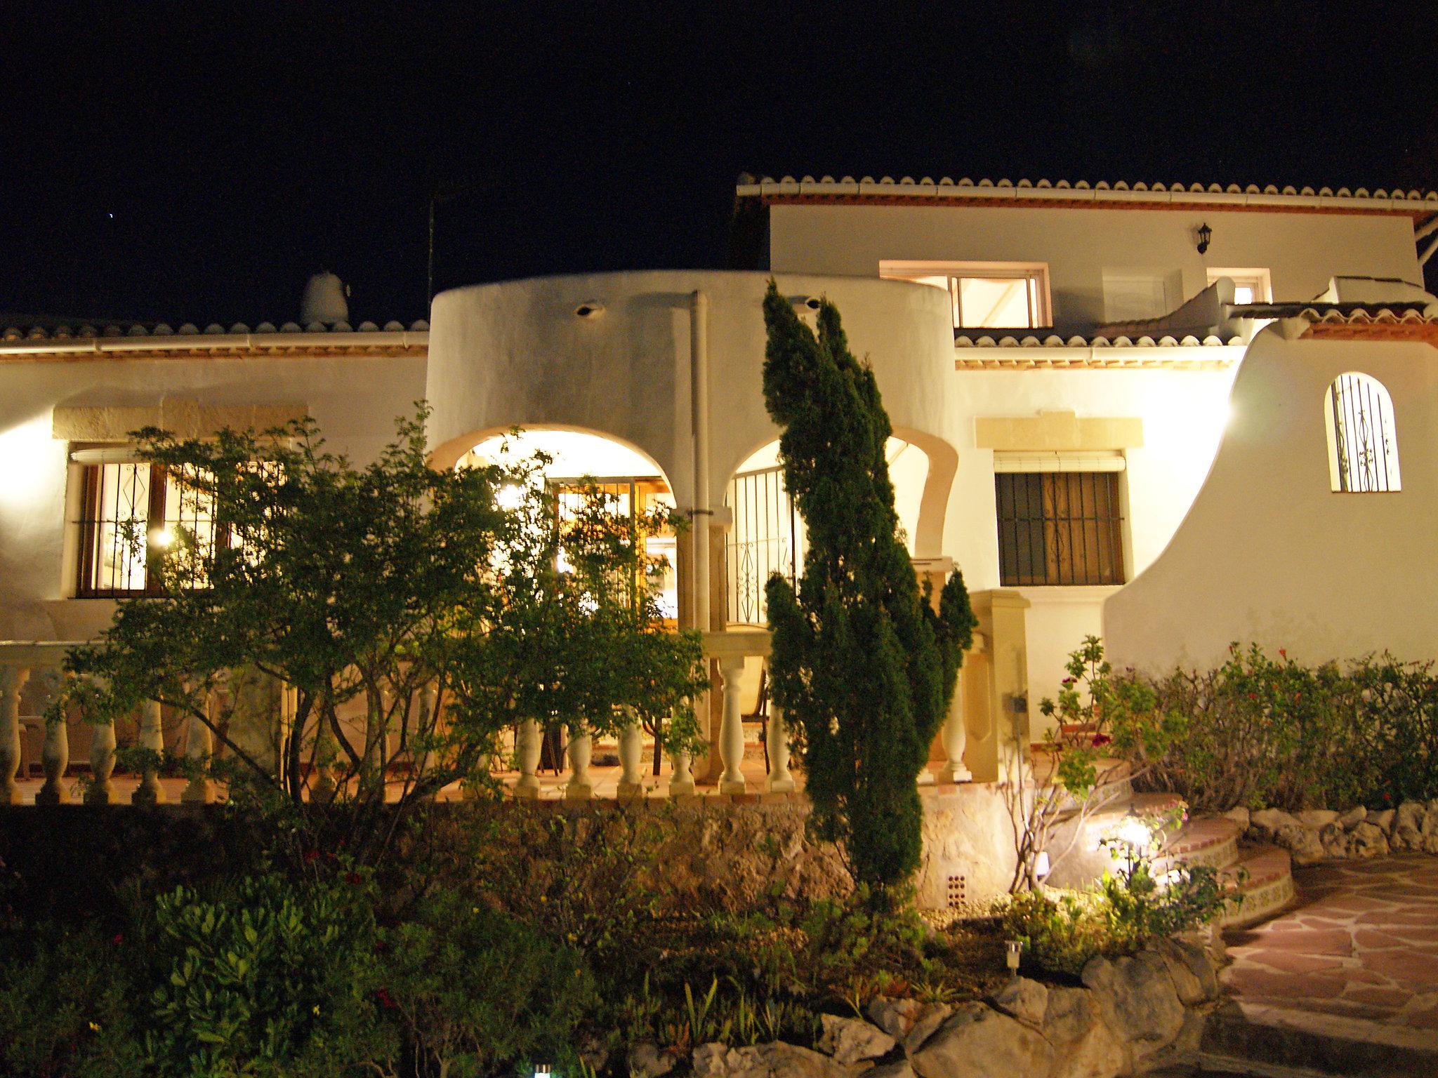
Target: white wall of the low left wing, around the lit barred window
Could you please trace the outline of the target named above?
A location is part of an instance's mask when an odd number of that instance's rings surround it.
[[[65,538],[68,444],[56,405],[105,407],[197,398],[210,405],[303,404],[329,448],[365,461],[394,418],[424,395],[424,359],[246,358],[3,362],[0,395],[0,640],[73,640],[104,627],[108,599],[73,599]]]

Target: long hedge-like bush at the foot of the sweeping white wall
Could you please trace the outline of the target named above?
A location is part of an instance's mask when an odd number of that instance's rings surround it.
[[[1114,683],[1146,693],[1119,717],[1117,749],[1143,785],[1196,811],[1300,809],[1438,796],[1438,677],[1431,663],[1369,657],[1307,667],[1280,648],[1229,647],[1217,670]],[[1152,730],[1165,730],[1152,737]]]

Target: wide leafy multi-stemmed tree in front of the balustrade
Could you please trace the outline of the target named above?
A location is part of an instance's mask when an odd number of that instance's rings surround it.
[[[646,529],[600,492],[561,519],[542,457],[437,470],[421,410],[370,464],[325,450],[302,420],[214,440],[137,433],[181,487],[181,520],[148,552],[154,595],[68,660],[52,709],[92,722],[158,700],[211,727],[233,779],[299,805],[306,776],[380,803],[482,783],[499,733],[523,719],[613,733],[667,716],[663,745],[693,747],[686,700],[705,687],[695,634],[664,631]],[[562,569],[561,569],[562,563]],[[237,734],[209,699],[259,677],[273,752]],[[397,766],[404,765],[404,766]],[[398,775],[398,779],[395,776]]]

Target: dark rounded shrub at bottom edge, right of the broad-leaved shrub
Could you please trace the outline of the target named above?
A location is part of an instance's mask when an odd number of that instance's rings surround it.
[[[398,1018],[413,1072],[452,1078],[499,1064],[572,1064],[574,1029],[597,1003],[578,950],[453,890],[424,898],[387,936],[375,992]]]

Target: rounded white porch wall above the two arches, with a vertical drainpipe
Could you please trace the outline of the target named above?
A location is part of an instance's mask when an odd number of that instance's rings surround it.
[[[447,466],[512,425],[587,430],[651,457],[682,506],[693,505],[690,326],[707,300],[709,489],[718,505],[733,470],[778,428],[764,408],[766,273],[663,270],[477,285],[434,298],[427,397],[430,444]],[[899,437],[938,457],[952,480],[943,427],[953,377],[949,299],[940,289],[869,277],[781,275],[801,313],[827,296],[856,355],[873,364]],[[812,323],[810,316],[807,321]],[[920,542],[938,553],[942,494],[926,492]],[[935,515],[938,520],[935,523]]]

